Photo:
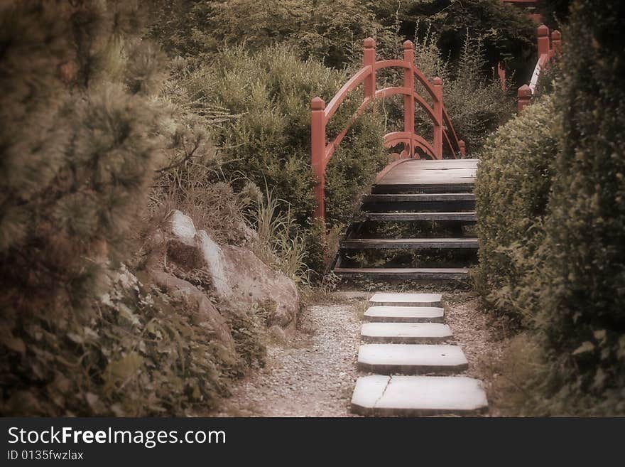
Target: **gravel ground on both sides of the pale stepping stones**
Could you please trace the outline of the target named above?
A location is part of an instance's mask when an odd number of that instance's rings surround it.
[[[477,298],[467,291],[444,291],[445,321],[454,343],[469,360],[468,376],[491,387],[493,363],[506,345]],[[349,402],[357,377],[362,293],[336,295],[337,303],[310,306],[303,316],[304,331],[287,341],[268,345],[267,365],[244,378],[224,399],[222,417],[352,417]],[[491,406],[490,416],[498,411]]]

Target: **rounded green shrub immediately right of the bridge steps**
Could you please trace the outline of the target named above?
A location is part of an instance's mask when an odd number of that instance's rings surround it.
[[[525,287],[534,279],[532,259],[544,239],[558,154],[555,121],[550,99],[526,107],[489,138],[478,165],[477,286],[514,318],[531,319],[539,305]]]

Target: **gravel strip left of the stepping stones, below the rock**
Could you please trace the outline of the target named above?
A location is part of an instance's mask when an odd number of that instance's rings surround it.
[[[351,417],[362,300],[308,307],[305,330],[268,346],[267,365],[224,399],[222,417]]]

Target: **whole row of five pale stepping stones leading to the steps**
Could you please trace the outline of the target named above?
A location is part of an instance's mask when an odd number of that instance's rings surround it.
[[[467,370],[462,349],[447,342],[440,294],[374,294],[364,313],[364,344],[352,412],[369,416],[479,414],[488,402],[482,382]]]

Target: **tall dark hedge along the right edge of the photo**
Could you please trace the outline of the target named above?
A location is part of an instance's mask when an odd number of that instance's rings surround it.
[[[562,135],[545,223],[548,289],[537,320],[563,389],[624,414],[625,5],[578,0],[571,14],[556,91]]]

